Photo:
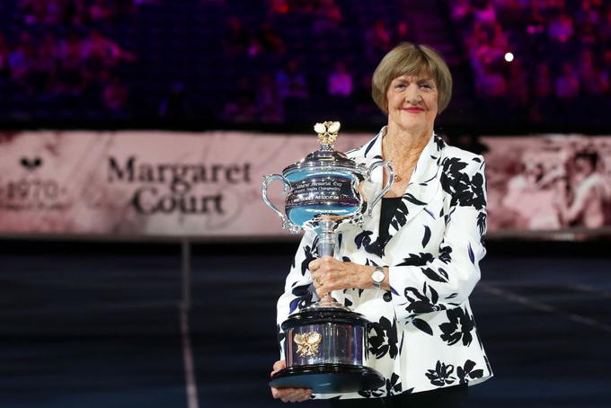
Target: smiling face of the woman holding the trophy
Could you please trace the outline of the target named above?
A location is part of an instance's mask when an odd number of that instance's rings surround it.
[[[410,132],[431,132],[438,111],[438,90],[429,75],[402,75],[386,92],[388,126]]]

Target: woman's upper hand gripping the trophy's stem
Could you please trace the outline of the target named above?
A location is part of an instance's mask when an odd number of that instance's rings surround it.
[[[325,256],[310,262],[308,269],[314,281],[316,294],[321,298],[332,290],[374,287],[371,274],[376,268],[373,266],[341,262],[331,256]]]

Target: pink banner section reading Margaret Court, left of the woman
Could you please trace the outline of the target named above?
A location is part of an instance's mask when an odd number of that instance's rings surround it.
[[[336,148],[373,135],[341,134]],[[36,131],[0,135],[0,234],[287,235],[262,175],[318,148],[313,134]],[[284,200],[282,185],[270,200]]]

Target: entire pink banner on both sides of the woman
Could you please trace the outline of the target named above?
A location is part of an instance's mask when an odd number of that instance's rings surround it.
[[[341,151],[372,134],[341,134]],[[608,229],[611,137],[481,137],[490,235]],[[0,134],[0,235],[289,236],[262,175],[315,135],[31,131]],[[283,207],[280,182],[270,200]]]

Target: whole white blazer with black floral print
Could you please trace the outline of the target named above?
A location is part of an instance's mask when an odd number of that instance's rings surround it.
[[[348,153],[357,163],[381,160],[386,128],[365,146]],[[382,190],[377,168],[365,182],[371,202]],[[486,190],[483,156],[474,155],[431,135],[410,184],[389,226],[379,236],[380,205],[362,228],[351,226],[338,236],[335,256],[344,261],[389,267],[390,291],[350,288],[332,296],[365,315],[367,365],[385,377],[371,392],[314,395],[314,398],[369,398],[418,393],[444,386],[481,383],[492,376],[468,297],[480,279],[479,262],[486,250]],[[309,262],[316,257],[317,238],[304,235],[278,301],[278,332],[288,315],[317,300]]]

